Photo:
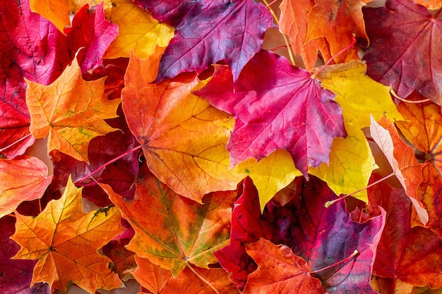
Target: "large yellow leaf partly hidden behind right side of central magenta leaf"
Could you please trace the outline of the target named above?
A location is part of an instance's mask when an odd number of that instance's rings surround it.
[[[335,101],[342,107],[347,138],[335,138],[328,166],[321,164],[309,173],[325,180],[338,195],[365,188],[371,171],[377,169],[371,149],[362,128],[370,125],[370,114],[375,119],[387,116],[403,120],[390,96],[390,87],[369,78],[363,61],[353,60],[328,66],[317,78],[322,86],[336,94]],[[366,201],[366,190],[354,195]]]

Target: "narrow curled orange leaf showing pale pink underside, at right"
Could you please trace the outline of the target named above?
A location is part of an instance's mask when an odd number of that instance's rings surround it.
[[[425,225],[429,220],[429,215],[422,202],[417,200],[417,186],[422,182],[422,166],[414,157],[412,147],[400,139],[398,130],[385,117],[376,123],[371,116],[370,134],[393,169],[391,175],[396,176],[407,191],[419,220]]]

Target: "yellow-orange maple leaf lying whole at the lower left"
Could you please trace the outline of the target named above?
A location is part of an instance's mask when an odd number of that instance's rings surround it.
[[[14,259],[38,259],[31,286],[49,283],[52,292],[66,293],[71,283],[94,293],[97,288],[122,286],[109,269],[109,258],[97,251],[121,233],[121,214],[116,207],[84,214],[81,188],[68,180],[59,200],[52,200],[36,217],[16,212],[16,233],[11,236],[20,245]]]

